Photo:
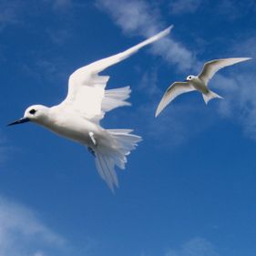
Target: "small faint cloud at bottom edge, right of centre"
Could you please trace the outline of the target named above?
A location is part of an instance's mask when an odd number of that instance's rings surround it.
[[[210,241],[194,238],[184,243],[180,249],[169,249],[165,256],[220,256]]]

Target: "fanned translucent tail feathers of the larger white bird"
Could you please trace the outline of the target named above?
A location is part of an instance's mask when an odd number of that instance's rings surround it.
[[[114,192],[118,187],[118,176],[115,166],[125,169],[127,156],[138,146],[141,137],[130,134],[131,129],[108,129],[109,138],[94,149],[97,171]]]

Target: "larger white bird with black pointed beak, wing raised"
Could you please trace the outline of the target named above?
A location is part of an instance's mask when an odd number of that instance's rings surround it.
[[[167,36],[171,28],[169,26],[124,52],[78,68],[69,77],[68,93],[63,102],[51,108],[42,105],[26,108],[24,117],[8,126],[32,121],[59,136],[86,145],[95,156],[100,177],[114,191],[114,186],[118,187],[115,166],[125,169],[128,154],[141,138],[131,134],[132,129],[105,129],[100,126],[106,112],[130,105],[126,99],[131,90],[129,87],[105,90],[109,77],[98,73],[128,58],[141,47]]]

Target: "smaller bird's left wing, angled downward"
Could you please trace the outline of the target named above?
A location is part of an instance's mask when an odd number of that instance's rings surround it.
[[[162,97],[159,106],[157,108],[155,117],[158,117],[160,112],[166,108],[170,101],[172,101],[175,97],[178,97],[182,93],[186,93],[189,91],[194,91],[195,88],[190,86],[188,82],[175,82],[165,92]]]

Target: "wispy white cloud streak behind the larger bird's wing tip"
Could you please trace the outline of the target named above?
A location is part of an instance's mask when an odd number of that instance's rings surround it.
[[[161,21],[159,10],[143,0],[97,0],[97,7],[112,16],[124,33],[152,36],[166,27]],[[179,70],[194,66],[195,56],[171,36],[163,38],[152,46],[152,53],[165,58]]]

